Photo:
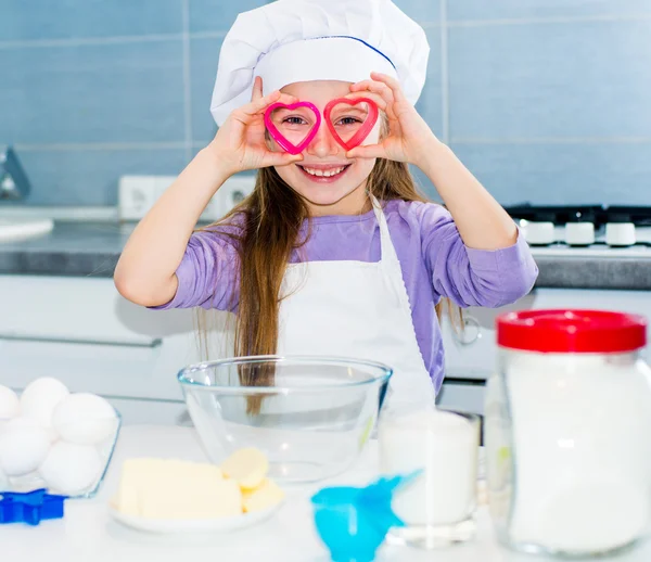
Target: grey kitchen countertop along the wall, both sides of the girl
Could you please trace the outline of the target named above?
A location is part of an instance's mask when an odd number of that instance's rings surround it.
[[[0,274],[113,276],[133,225],[56,222],[47,235],[0,244]],[[651,290],[651,247],[534,248],[536,286]]]

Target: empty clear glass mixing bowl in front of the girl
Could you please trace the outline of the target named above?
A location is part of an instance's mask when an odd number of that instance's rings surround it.
[[[392,369],[329,357],[241,357],[178,374],[212,462],[256,447],[269,476],[316,482],[346,470],[375,426]]]

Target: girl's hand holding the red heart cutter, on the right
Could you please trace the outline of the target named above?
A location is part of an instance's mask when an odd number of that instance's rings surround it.
[[[386,113],[390,131],[379,144],[356,146],[348,151],[346,156],[387,158],[422,168],[431,158],[433,149],[441,142],[413,105],[407,101],[398,80],[385,74],[371,73],[370,80],[354,84],[350,91],[371,92],[380,98],[378,106]]]

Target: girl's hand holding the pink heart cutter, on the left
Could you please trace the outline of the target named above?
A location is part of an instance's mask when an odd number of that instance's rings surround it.
[[[229,176],[247,169],[285,166],[303,159],[301,154],[294,156],[273,152],[267,145],[265,110],[277,101],[290,104],[297,100],[278,90],[263,97],[263,80],[256,77],[251,103],[233,111],[217,131],[208,150]]]

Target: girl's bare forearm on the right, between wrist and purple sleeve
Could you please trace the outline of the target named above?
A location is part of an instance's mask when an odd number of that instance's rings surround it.
[[[426,154],[419,167],[445,202],[463,243],[476,250],[513,245],[518,229],[512,218],[454,152],[435,139]]]

